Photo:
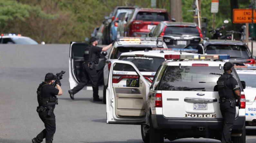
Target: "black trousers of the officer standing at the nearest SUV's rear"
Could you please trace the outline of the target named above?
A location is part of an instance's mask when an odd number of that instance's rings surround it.
[[[220,103],[221,114],[223,117],[222,143],[232,143],[231,131],[235,122],[236,108],[230,107],[230,101]]]

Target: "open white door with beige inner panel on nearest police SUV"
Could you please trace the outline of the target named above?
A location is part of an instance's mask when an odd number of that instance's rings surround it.
[[[132,62],[113,60],[106,90],[107,123],[146,123],[149,86]]]

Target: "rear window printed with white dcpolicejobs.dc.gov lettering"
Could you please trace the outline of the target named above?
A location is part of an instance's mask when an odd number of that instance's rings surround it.
[[[122,56],[119,60],[126,60],[132,62],[139,71],[156,72],[164,58],[157,57],[137,57],[137,56]]]

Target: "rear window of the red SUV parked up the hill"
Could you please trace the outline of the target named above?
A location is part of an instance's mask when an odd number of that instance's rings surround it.
[[[168,13],[166,12],[138,12],[136,20],[142,21],[169,21]]]

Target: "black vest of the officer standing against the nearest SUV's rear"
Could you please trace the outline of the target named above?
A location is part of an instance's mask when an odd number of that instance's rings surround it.
[[[217,81],[218,92],[220,98],[235,99],[232,88],[227,86],[227,80],[232,77],[231,75],[223,74]]]

